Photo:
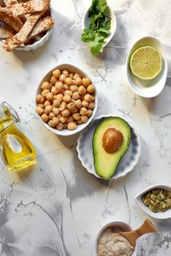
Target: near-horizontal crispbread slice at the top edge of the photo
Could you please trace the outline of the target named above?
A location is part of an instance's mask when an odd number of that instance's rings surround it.
[[[20,16],[28,13],[42,12],[45,9],[45,1],[31,0],[26,3],[13,4],[12,6],[5,8],[10,10],[13,15]]]

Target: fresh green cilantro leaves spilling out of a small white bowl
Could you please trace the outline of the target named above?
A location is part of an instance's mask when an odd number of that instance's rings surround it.
[[[91,53],[96,56],[103,51],[105,39],[110,35],[110,18],[104,15],[107,8],[106,0],[93,0],[88,12],[90,23],[88,29],[83,30],[82,41],[88,43]]]

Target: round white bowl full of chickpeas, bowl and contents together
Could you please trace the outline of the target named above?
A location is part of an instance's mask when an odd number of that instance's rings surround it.
[[[90,124],[97,108],[94,84],[71,64],[51,69],[39,83],[36,111],[42,124],[56,135],[69,136]]]

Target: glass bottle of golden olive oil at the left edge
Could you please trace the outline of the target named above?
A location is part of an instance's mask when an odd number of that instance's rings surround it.
[[[8,108],[0,107],[0,149],[1,157],[8,170],[17,170],[35,162],[34,146],[23,132],[15,126]]]

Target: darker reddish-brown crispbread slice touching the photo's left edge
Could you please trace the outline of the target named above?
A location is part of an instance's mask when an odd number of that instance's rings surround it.
[[[0,21],[9,25],[16,32],[20,31],[23,26],[20,18],[13,15],[12,12],[3,7],[0,7]]]

